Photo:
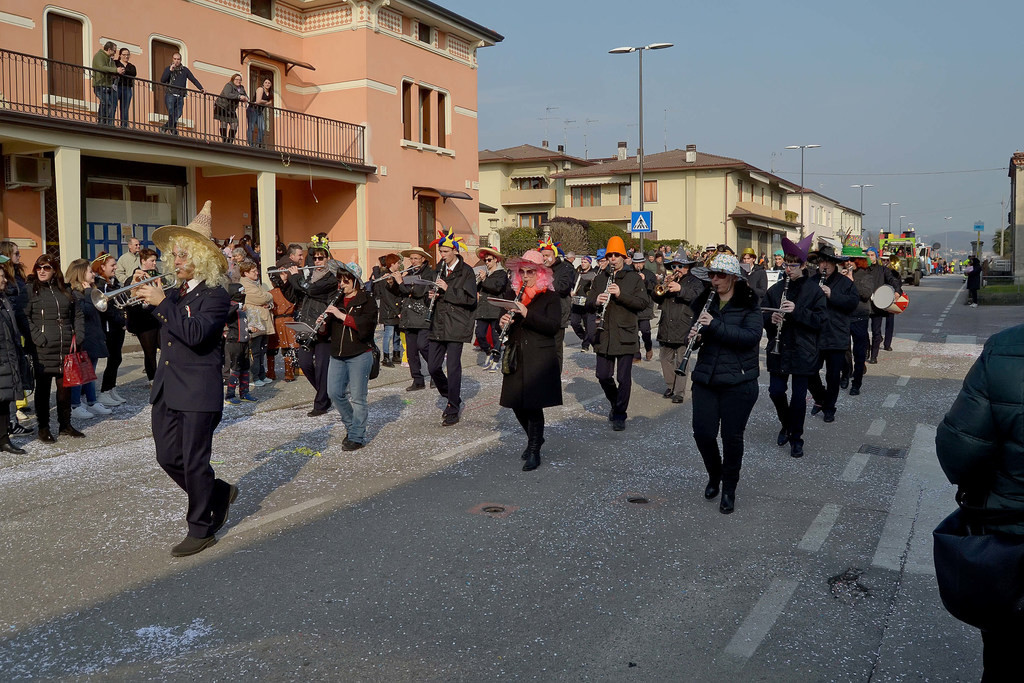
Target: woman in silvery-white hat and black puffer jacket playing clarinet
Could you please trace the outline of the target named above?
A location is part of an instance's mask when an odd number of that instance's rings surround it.
[[[758,400],[758,345],[761,307],[743,282],[739,261],[718,254],[708,268],[711,290],[694,304],[700,351],[693,379],[693,440],[708,470],[705,498],[714,500],[721,486],[723,514],[733,511],[743,461],[743,432]],[[718,435],[722,433],[719,452]]]

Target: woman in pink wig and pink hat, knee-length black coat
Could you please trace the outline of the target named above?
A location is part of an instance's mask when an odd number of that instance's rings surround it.
[[[544,265],[539,251],[530,250],[522,258],[509,261],[508,269],[513,289],[507,290],[506,295],[518,295],[519,302],[514,313],[506,312],[500,321],[502,328],[511,327],[499,403],[512,409],[526,432],[526,450],[522,452],[526,462],[522,470],[528,472],[541,464],[544,409],[562,404],[555,347],[555,335],[561,329],[562,303],[553,288],[551,268]]]

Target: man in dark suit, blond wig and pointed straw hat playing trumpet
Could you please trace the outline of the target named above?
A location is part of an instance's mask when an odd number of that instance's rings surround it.
[[[230,300],[227,259],[212,240],[210,202],[187,226],[164,225],[153,241],[173,259],[178,288],[138,288],[160,321],[160,362],[154,378],[153,437],[157,462],[188,496],[188,535],[171,555],[195,555],[217,542],[238,487],[214,476],[213,431],[223,413],[221,336]]]

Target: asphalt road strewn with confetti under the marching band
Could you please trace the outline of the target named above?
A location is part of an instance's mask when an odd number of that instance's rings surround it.
[[[635,368],[612,432],[573,339],[530,473],[473,351],[459,426],[385,369],[373,440],[351,454],[334,416],[305,416],[304,382],[257,390],[215,437],[241,489],[228,525],[173,559],[184,497],[155,463],[131,356],[134,408],[80,442],[2,454],[0,676],[977,680],[980,637],[943,610],[931,566],[953,508],[934,431],[1024,309],[966,307],[962,284],[908,288],[894,350],[836,423],[808,418],[801,460],[774,444],[763,375],[729,516],[701,496],[690,405],[660,398],[656,362]]]

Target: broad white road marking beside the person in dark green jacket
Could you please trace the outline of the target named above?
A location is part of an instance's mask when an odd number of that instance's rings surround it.
[[[871,564],[934,574],[932,529],[955,507],[950,484],[935,456],[935,427],[919,424]]]

